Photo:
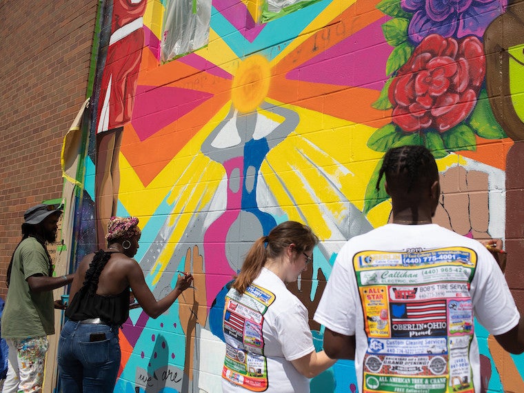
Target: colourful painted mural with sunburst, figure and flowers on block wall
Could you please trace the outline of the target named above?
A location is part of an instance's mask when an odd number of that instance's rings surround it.
[[[264,9],[212,0],[208,42],[163,61],[167,0],[101,1],[79,214],[98,239],[111,215],[139,216],[135,258],[157,298],[177,271],[195,278],[158,319],[131,311],[115,392],[220,392],[228,283],[252,242],[288,219],[321,239],[289,286],[320,347],[312,315],[338,250],[389,219],[374,185],[390,147],[423,144],[438,159],[436,223],[518,247],[524,217],[506,213],[520,210],[510,189],[524,188],[523,3],[319,0],[261,19]],[[475,330],[484,390],[524,391],[523,359]],[[352,362],[311,387],[355,392]]]

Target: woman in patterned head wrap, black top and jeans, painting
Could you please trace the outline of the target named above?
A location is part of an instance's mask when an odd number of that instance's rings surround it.
[[[74,274],[58,347],[63,392],[113,391],[121,358],[119,327],[129,316],[130,290],[156,319],[193,281],[184,273],[163,299],[154,299],[133,259],[141,236],[138,223],[137,217],[111,217],[107,248],[85,256]]]

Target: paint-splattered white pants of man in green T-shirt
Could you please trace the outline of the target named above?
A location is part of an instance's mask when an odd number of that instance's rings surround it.
[[[6,342],[9,347],[9,368],[2,393],[41,392],[48,338],[6,339]]]

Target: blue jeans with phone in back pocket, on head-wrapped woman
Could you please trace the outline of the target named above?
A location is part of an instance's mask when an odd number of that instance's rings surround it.
[[[111,393],[119,366],[118,327],[77,321],[63,325],[58,344],[62,392]]]

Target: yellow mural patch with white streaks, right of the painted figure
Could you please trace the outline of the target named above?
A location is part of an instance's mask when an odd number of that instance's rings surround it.
[[[301,122],[276,145],[261,167],[276,205],[289,219],[303,221],[324,241],[341,240],[350,203],[362,209],[367,181],[380,155],[356,162],[373,129],[325,114],[294,108]],[[364,150],[369,150],[365,148]]]

